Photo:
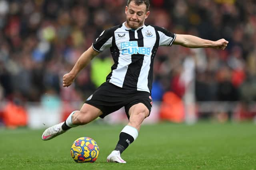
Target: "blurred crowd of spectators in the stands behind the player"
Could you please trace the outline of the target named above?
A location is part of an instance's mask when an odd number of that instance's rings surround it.
[[[226,50],[160,47],[152,97],[186,92],[182,73],[194,61],[197,101],[256,100],[255,0],[151,0],[145,24],[210,40]],[[110,72],[105,51],[69,88],[62,76],[100,33],[125,21],[126,0],[0,0],[0,102],[84,101]],[[47,96],[47,98],[45,97]],[[50,97],[49,97],[50,96]]]

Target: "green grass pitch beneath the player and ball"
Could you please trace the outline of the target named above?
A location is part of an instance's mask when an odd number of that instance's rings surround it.
[[[253,123],[142,125],[122,154],[127,163],[106,163],[122,127],[91,123],[50,141],[41,140],[44,129],[0,129],[0,170],[256,170]],[[95,163],[76,163],[70,156],[73,141],[84,136],[100,147]]]

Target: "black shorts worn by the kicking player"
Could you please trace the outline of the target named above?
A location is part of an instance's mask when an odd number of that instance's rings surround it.
[[[128,90],[120,88],[110,82],[104,82],[100,87],[85,101],[100,109],[104,118],[106,115],[120,109],[124,106],[126,115],[129,119],[129,109],[135,104],[144,104],[149,113],[152,107],[152,99],[150,93],[137,90]]]

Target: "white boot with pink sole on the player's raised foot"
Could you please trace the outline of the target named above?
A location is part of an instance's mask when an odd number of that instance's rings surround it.
[[[42,134],[42,140],[47,141],[47,140],[50,140],[50,139],[52,139],[52,138],[54,138],[54,137],[56,137],[56,136],[58,136],[58,135],[60,135],[64,132],[66,132],[66,131],[62,130],[61,126],[62,126],[63,123],[64,122],[61,122],[57,125],[53,125],[51,127],[48,127],[44,131],[44,133]]]

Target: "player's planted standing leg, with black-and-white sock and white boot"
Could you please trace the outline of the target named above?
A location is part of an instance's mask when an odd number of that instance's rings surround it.
[[[138,137],[140,126],[143,120],[148,117],[149,113],[148,108],[142,103],[130,107],[129,123],[122,129],[116,148],[107,157],[107,162],[126,163],[120,154]]]

